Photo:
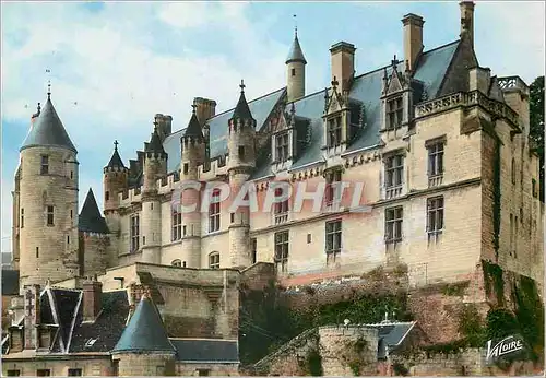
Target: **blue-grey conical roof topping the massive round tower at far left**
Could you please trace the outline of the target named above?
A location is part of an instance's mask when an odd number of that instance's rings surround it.
[[[62,126],[61,119],[57,115],[49,96],[39,116],[31,127],[28,135],[26,135],[20,151],[33,146],[61,146],[78,152],[64,126]]]

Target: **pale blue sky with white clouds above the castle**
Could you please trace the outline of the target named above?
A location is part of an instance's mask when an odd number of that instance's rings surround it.
[[[11,190],[19,147],[47,80],[79,150],[80,206],[90,187],[102,206],[102,169],[118,139],[127,163],[143,147],[156,113],[186,127],[192,98],[232,108],[281,88],[298,35],[308,61],[306,92],[330,82],[329,47],[357,47],[357,74],[403,56],[406,13],[425,19],[431,49],[459,37],[458,2],[10,2],[2,3],[2,251],[11,250]],[[475,9],[480,66],[530,84],[544,74],[544,3],[484,2]],[[46,69],[50,73],[46,73]]]

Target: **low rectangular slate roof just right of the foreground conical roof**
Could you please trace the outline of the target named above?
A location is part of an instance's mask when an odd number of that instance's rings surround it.
[[[185,363],[239,363],[239,347],[236,340],[170,339],[177,354]]]

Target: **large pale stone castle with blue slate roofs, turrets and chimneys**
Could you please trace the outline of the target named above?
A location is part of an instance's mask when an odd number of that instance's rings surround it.
[[[474,3],[460,9],[460,39],[429,50],[425,21],[405,15],[404,59],[364,74],[356,73],[354,45],[333,45],[332,82],[323,91],[305,93],[307,61],[296,34],[280,90],[248,102],[241,82],[236,107],[222,114],[215,101],[195,97],[188,126],[176,132],[170,116],[155,115],[150,141],[129,165],[115,142],[103,172],[104,217],[91,190],[78,214],[78,151],[48,93],[32,117],[15,176],[12,250],[24,297],[13,300],[19,318],[7,339],[7,371],[21,373],[15,365],[29,358],[28,350],[75,355],[69,345],[83,343],[78,351],[93,351],[95,365],[108,366],[93,370],[99,375],[234,374],[237,356],[222,353],[206,361],[212,367],[188,369],[179,355],[193,339],[179,350],[175,339],[198,335],[236,349],[238,285],[264,263],[287,287],[400,264],[413,286],[459,282],[475,276],[482,260],[541,282],[544,210],[529,87],[479,67]],[[198,208],[212,181],[232,193],[250,184],[259,203],[276,182],[325,190],[319,211],[293,211],[290,197],[271,212],[232,211],[214,200],[204,212],[183,212],[174,203],[188,181],[203,184],[181,197]],[[340,182],[364,182],[366,212],[345,205]],[[203,304],[195,314],[189,292]],[[158,330],[158,346],[126,340],[129,331],[102,349],[85,346],[93,340],[85,328],[108,322],[105,300],[122,303],[123,314],[109,315],[120,327],[130,318],[126,329]],[[61,304],[71,314],[54,310]],[[169,316],[210,323],[183,331]],[[138,345],[122,349],[131,343]],[[135,350],[149,353],[154,371],[141,366]],[[110,352],[121,357],[110,359]],[[47,367],[46,356],[41,374],[58,368]]]

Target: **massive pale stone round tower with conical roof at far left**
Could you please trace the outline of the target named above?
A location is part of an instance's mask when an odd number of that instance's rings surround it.
[[[79,274],[78,151],[50,91],[20,152],[20,287],[74,277]]]

